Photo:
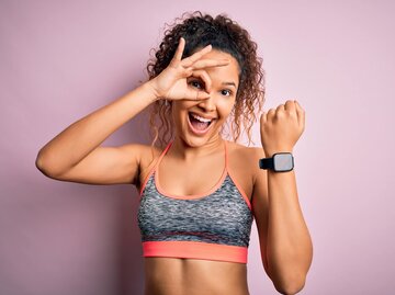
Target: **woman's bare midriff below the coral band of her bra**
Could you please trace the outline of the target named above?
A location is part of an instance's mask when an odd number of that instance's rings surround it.
[[[145,295],[249,295],[247,264],[145,258]]]

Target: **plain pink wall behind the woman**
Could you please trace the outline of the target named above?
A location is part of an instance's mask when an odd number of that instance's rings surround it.
[[[145,80],[163,24],[196,9],[227,12],[258,42],[267,110],[306,110],[294,154],[314,261],[301,294],[391,294],[395,4],[330,2],[1,0],[0,294],[142,294],[136,190],[54,181],[34,160]],[[146,141],[143,120],[104,145]],[[248,279],[252,295],[276,294],[255,228]]]

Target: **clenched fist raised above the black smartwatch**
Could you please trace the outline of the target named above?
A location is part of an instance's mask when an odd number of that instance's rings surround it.
[[[275,152],[292,152],[305,127],[305,111],[296,101],[287,100],[276,109],[263,112],[260,134],[266,157]]]

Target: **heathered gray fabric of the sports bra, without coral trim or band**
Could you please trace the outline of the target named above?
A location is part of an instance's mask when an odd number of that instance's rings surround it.
[[[253,216],[229,174],[214,193],[180,200],[158,192],[154,172],[144,188],[137,219],[143,241],[248,247]]]

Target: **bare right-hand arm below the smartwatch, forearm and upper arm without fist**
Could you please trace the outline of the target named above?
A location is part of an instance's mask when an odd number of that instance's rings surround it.
[[[255,162],[263,158],[258,150]],[[262,262],[275,288],[295,294],[305,284],[313,245],[298,203],[295,172],[256,170],[252,208]]]

